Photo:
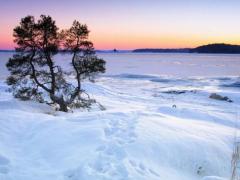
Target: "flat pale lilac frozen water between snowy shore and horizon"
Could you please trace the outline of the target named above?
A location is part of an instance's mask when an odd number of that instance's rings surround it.
[[[0,53],[0,77],[13,53]],[[188,53],[99,53],[107,62],[107,75],[153,74],[161,76],[240,76],[240,55]],[[56,61],[69,67],[69,55],[57,55]]]

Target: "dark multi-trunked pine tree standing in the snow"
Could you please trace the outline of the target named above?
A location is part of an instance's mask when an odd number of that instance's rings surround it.
[[[21,19],[14,29],[16,53],[6,64],[11,75],[7,78],[13,95],[22,100],[37,100],[57,104],[60,111],[72,107],[90,107],[90,99],[81,87],[83,79],[94,79],[105,72],[105,61],[95,55],[93,43],[88,41],[89,30],[74,21],[72,27],[59,31],[50,16],[41,15]],[[76,83],[68,81],[66,72],[54,61],[59,51],[71,53]]]

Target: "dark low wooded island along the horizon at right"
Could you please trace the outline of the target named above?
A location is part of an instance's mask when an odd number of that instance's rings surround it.
[[[196,48],[183,49],[135,49],[135,53],[211,53],[211,54],[240,54],[240,45],[208,44]]]

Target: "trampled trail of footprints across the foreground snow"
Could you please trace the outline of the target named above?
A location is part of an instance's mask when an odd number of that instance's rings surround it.
[[[83,167],[68,172],[69,180],[102,179],[102,180],[127,180],[129,173],[126,168],[127,154],[124,146],[134,143],[137,135],[135,127],[137,117],[123,116],[116,119],[112,116],[107,119],[104,129],[105,143],[96,149],[96,157],[90,159]],[[140,169],[144,166],[140,166]]]

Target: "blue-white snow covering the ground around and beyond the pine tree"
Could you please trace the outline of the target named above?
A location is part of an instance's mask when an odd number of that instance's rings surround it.
[[[115,65],[110,59],[131,55],[100,56],[106,56],[109,70],[84,88],[106,110],[73,113],[14,99],[1,62],[0,180],[229,179],[240,108],[237,60],[235,66],[226,63],[229,69],[219,65],[223,61],[209,63],[210,70],[207,63],[195,70],[177,64],[185,69],[178,69],[183,77],[171,72],[177,68],[170,62],[165,65],[169,74],[148,75],[157,74],[157,57],[150,57],[152,72],[146,61],[134,61],[136,56]],[[184,62],[184,55],[159,56],[179,56],[175,58]],[[213,67],[221,70],[214,73]],[[148,71],[140,73],[141,68]],[[202,76],[204,70],[208,76]],[[186,77],[188,71],[198,77]],[[211,93],[233,103],[210,99]]]

